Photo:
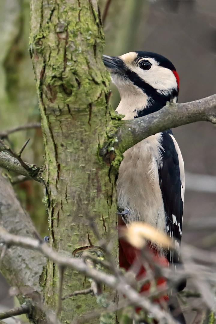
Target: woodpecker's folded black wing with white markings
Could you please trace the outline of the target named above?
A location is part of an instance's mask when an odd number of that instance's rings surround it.
[[[162,165],[158,169],[161,192],[167,216],[167,233],[173,241],[181,240],[183,202],[185,191],[184,162],[171,130],[162,132]],[[176,241],[176,244],[178,244]],[[170,263],[178,263],[178,257],[170,250]]]

